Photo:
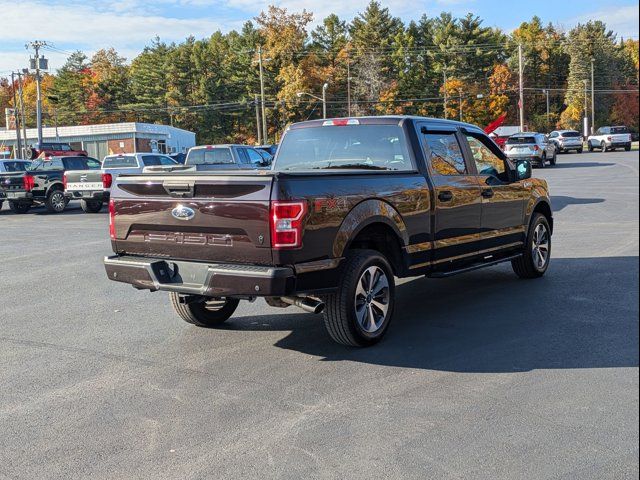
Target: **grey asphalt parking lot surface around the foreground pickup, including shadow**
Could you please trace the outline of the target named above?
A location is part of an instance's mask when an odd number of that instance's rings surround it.
[[[385,340],[105,278],[107,215],[0,212],[0,479],[638,477],[638,152],[548,179],[552,264],[398,288]]]

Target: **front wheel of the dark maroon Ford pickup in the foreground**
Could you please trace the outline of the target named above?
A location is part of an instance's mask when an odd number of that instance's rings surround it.
[[[547,217],[534,214],[522,256],[511,261],[520,278],[538,278],[545,274],[551,260],[551,228]]]

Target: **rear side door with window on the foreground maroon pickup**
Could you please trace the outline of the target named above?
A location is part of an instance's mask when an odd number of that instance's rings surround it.
[[[474,255],[480,240],[480,185],[455,126],[418,125],[434,189],[434,267]]]

